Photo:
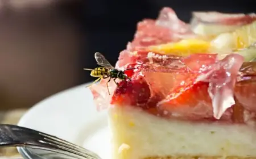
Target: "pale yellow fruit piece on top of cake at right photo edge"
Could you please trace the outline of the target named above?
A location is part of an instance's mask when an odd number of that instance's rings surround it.
[[[236,49],[249,47],[256,42],[256,22],[238,28],[233,33]]]

